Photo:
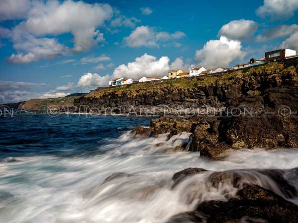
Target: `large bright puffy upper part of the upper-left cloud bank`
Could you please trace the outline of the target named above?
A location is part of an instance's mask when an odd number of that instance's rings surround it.
[[[83,1],[51,0],[37,2],[29,12],[28,19],[20,23],[17,30],[35,35],[74,35],[74,51],[90,49],[103,40],[96,27],[104,25],[112,17],[109,4],[88,4]]]

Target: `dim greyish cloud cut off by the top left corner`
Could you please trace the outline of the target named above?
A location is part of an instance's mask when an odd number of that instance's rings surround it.
[[[0,0],[0,21],[26,17],[30,0]]]

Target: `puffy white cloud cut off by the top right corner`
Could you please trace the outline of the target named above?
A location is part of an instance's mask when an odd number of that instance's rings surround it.
[[[264,0],[256,13],[260,17],[271,17],[271,19],[288,19],[294,15],[298,8],[298,0]]]

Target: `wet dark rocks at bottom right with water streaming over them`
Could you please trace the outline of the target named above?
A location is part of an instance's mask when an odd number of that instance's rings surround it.
[[[207,170],[187,168],[175,173],[173,180],[180,179],[183,181],[187,177],[202,171]],[[298,206],[273,192],[274,189],[280,188],[279,191],[284,197],[297,197],[295,186],[286,177],[287,175],[297,178],[297,168],[291,170],[240,169],[212,172],[207,178],[207,184],[218,189],[224,185],[230,185],[238,188],[236,194],[232,197],[226,197],[226,201],[207,200],[200,202],[193,212],[175,215],[167,223],[296,223],[298,221]],[[257,185],[260,183],[264,187]],[[274,188],[268,189],[273,185],[275,185]],[[200,191],[201,188],[197,187],[196,190]]]

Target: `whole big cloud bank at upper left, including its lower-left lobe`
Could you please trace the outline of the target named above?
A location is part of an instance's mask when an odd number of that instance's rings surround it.
[[[30,5],[26,19],[11,30],[13,47],[17,53],[8,58],[9,62],[29,63],[87,51],[104,42],[103,33],[97,27],[105,26],[105,21],[113,15],[113,8],[109,4],[33,0]],[[48,37],[64,33],[73,34],[72,49]],[[42,36],[47,38],[40,38]]]

